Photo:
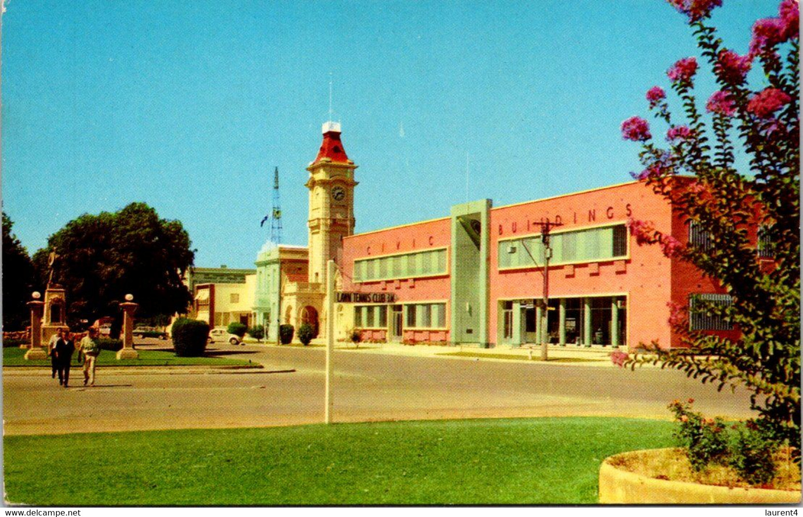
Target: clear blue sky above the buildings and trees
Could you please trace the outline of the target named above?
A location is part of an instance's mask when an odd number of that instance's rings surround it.
[[[777,15],[724,4],[713,22],[740,53]],[[619,124],[689,55],[661,0],[10,0],[3,210],[32,254],[79,214],[147,202],[181,220],[197,266],[253,267],[275,166],[283,242],[307,242],[330,74],[360,232],[446,216],[466,201],[467,157],[468,197],[495,206],[629,181],[638,146]]]

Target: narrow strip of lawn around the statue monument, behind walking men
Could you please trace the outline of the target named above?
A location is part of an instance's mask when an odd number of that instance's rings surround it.
[[[51,360],[26,360],[26,349],[7,347],[2,349],[2,365],[6,366],[50,366]],[[226,357],[177,357],[173,352],[163,350],[137,350],[140,356],[137,359],[117,360],[116,352],[104,350],[98,356],[99,365],[104,366],[244,366],[247,360],[228,359]],[[77,353],[72,356],[72,368],[80,368],[75,362]]]

